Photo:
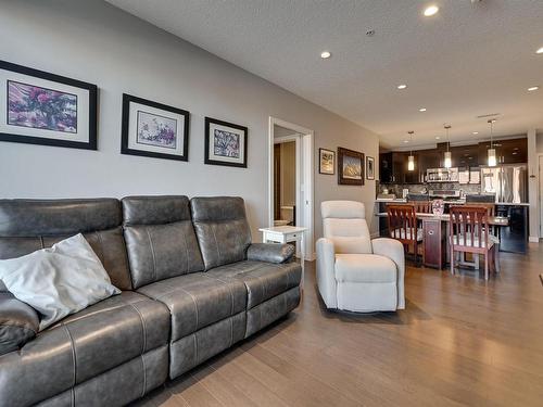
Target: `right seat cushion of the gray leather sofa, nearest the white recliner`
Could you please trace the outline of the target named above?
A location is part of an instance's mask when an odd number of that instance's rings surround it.
[[[248,291],[248,309],[300,285],[302,267],[298,263],[272,264],[239,262],[207,271],[220,280],[242,281]]]

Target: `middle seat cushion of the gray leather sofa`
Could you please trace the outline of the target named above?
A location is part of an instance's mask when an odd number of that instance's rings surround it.
[[[172,342],[245,309],[241,281],[194,272],[144,285],[138,290],[164,303],[172,315]]]

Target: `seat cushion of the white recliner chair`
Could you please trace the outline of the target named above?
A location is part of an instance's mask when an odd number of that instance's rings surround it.
[[[377,254],[337,254],[336,280],[340,282],[394,282],[397,269],[390,258]]]

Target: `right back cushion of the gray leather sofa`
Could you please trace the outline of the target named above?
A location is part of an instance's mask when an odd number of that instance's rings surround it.
[[[245,259],[251,229],[241,198],[193,198],[190,206],[206,270]]]

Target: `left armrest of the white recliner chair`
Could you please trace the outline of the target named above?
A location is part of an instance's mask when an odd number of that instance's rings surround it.
[[[330,239],[317,240],[317,287],[328,308],[338,307],[336,249]]]

